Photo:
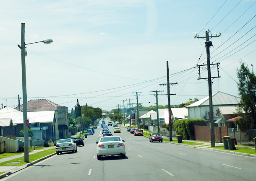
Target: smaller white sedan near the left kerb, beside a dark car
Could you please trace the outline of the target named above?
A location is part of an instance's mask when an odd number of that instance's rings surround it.
[[[70,152],[70,151],[72,153],[77,152],[76,142],[73,139],[67,138],[67,139],[59,140],[57,142],[57,145],[56,145],[57,155],[59,155],[62,152]]]

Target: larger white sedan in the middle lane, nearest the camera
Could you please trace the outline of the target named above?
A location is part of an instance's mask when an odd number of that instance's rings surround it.
[[[97,158],[101,160],[103,155],[121,155],[125,158],[125,140],[121,140],[119,136],[101,137],[97,145]]]

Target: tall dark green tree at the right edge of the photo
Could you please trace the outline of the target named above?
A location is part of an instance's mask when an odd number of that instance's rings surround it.
[[[237,68],[240,119],[235,122],[241,131],[256,129],[256,76],[244,62]]]

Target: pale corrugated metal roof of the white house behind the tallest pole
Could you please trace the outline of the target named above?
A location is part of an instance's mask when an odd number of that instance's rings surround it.
[[[232,96],[223,92],[216,92],[212,94],[212,105],[213,106],[221,106],[221,105],[230,105],[235,106],[240,102],[240,98],[236,96]],[[197,106],[209,106],[209,96],[192,103],[189,107],[197,107]]]

